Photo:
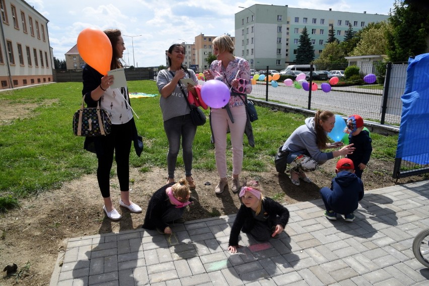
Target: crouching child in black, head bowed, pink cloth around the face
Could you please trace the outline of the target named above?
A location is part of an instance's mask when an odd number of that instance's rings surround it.
[[[185,206],[192,202],[190,195],[189,183],[185,178],[157,190],[149,201],[142,228],[172,234],[170,224],[185,222],[182,215]]]

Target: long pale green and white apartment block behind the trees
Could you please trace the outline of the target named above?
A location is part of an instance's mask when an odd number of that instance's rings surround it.
[[[242,7],[243,8],[243,7]],[[282,69],[294,63],[304,27],[314,47],[315,58],[328,41],[329,30],[344,39],[349,24],[353,32],[369,23],[388,19],[387,15],[289,8],[255,4],[235,14],[235,55],[249,61],[251,68]]]

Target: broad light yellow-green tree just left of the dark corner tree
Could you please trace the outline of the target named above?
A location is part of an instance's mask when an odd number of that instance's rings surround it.
[[[368,24],[360,33],[359,43],[349,55],[386,54],[388,48],[386,35],[389,30],[391,26],[385,21]]]

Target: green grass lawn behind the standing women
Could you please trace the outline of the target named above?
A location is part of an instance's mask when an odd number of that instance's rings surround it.
[[[129,92],[158,94],[154,81],[130,81],[128,85]],[[20,110],[30,104],[37,105],[29,116],[18,115],[12,122],[0,122],[0,212],[16,206],[21,198],[58,188],[83,174],[95,173],[95,154],[83,149],[84,137],[75,136],[72,130],[73,114],[82,102],[81,91],[82,83],[54,83],[0,92],[2,108]],[[140,158],[131,149],[131,166],[141,172],[153,166],[166,168],[168,142],[159,96],[131,99],[131,105],[139,117],[135,118],[137,130],[144,137],[145,145]],[[256,109],[259,119],[252,123],[256,146],[251,148],[245,137],[243,161],[243,169],[254,172],[255,176],[273,164],[277,148],[305,119],[296,113]],[[205,112],[208,115],[208,110]],[[397,136],[371,135],[372,158],[393,161]],[[230,146],[227,150],[230,152]],[[194,169],[216,170],[208,122],[198,127],[193,152]],[[178,165],[183,165],[181,156]]]

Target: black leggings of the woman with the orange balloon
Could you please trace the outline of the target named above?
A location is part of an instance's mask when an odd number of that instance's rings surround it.
[[[110,197],[110,170],[113,164],[113,153],[115,153],[116,173],[118,174],[120,190],[128,191],[129,189],[129,152],[131,150],[132,124],[132,119],[125,124],[112,124],[110,134],[101,138],[103,152],[97,154],[97,180],[101,195],[104,198]]]

